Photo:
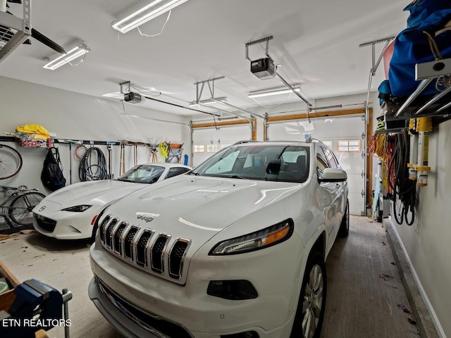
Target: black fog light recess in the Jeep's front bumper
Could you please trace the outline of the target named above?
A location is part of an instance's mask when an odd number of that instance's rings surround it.
[[[249,280],[211,280],[206,293],[232,301],[254,299],[258,296],[257,290]]]

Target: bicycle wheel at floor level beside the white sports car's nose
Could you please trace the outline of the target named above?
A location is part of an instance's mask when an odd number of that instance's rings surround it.
[[[25,192],[17,196],[8,208],[8,216],[12,220],[13,227],[16,225],[32,225],[32,210],[39,204],[45,195],[40,192]]]

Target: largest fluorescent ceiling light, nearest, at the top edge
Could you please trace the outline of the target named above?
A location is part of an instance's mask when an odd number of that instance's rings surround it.
[[[188,0],[154,0],[147,6],[144,6],[122,20],[113,22],[111,27],[125,34],[143,23],[147,23],[147,21],[166,13],[167,11],[171,11],[171,9],[183,4],[186,1]]]

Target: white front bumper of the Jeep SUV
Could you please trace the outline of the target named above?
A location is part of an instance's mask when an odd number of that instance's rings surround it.
[[[186,337],[220,338],[247,331],[255,331],[261,338],[289,337],[302,278],[302,254],[303,246],[296,236],[245,255],[213,258],[208,249],[200,249],[190,262],[186,284],[180,286],[133,268],[96,242],[90,258],[99,280],[90,284],[89,297],[126,337],[149,337],[149,330],[118,302],[175,323],[187,332]],[[230,301],[206,294],[210,280],[234,279],[252,282],[259,292],[257,299]],[[100,281],[118,302],[102,292]]]

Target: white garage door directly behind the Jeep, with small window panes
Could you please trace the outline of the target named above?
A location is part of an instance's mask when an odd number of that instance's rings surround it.
[[[365,200],[365,159],[364,115],[350,115],[329,118],[312,118],[268,125],[269,141],[303,140],[304,133],[310,132],[311,137],[319,139],[333,149],[340,165],[346,170],[350,194],[350,213],[364,215]]]

